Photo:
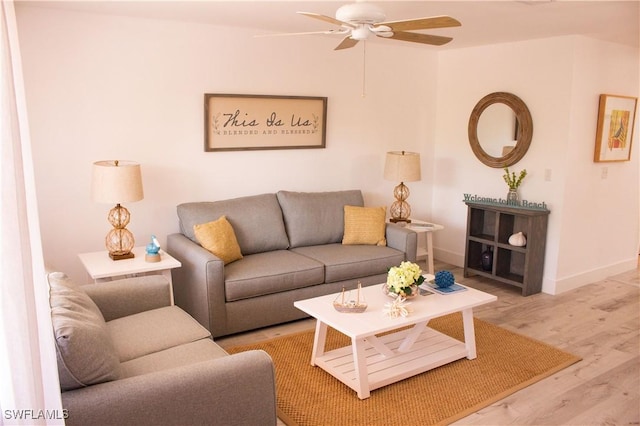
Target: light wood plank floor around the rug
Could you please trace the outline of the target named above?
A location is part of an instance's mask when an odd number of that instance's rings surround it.
[[[424,269],[425,265],[422,265]],[[639,425],[640,268],[557,296],[519,289],[436,262],[458,282],[498,296],[477,318],[581,356],[582,361],[456,425]],[[300,320],[216,339],[223,347],[314,328]],[[411,426],[411,425],[407,425]]]

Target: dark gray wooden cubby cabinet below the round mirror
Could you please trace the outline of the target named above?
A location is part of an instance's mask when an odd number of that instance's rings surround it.
[[[522,289],[523,296],[542,289],[544,251],[549,210],[467,202],[467,237],[464,276],[481,275]],[[522,232],[524,247],[509,244],[509,237]],[[490,251],[491,263],[483,268]],[[490,267],[489,267],[490,266]]]

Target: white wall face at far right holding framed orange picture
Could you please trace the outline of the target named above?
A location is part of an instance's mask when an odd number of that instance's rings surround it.
[[[638,50],[583,37],[572,41],[572,105],[558,292],[629,270],[638,261],[637,116],[631,161],[593,162],[598,97],[602,93],[638,96]]]

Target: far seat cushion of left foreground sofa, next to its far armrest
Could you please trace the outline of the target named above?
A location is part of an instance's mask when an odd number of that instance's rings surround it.
[[[107,327],[120,362],[211,337],[206,328],[177,306],[114,319]]]

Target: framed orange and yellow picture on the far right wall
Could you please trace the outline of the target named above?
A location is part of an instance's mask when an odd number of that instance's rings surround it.
[[[638,98],[600,95],[593,161],[629,161]]]

